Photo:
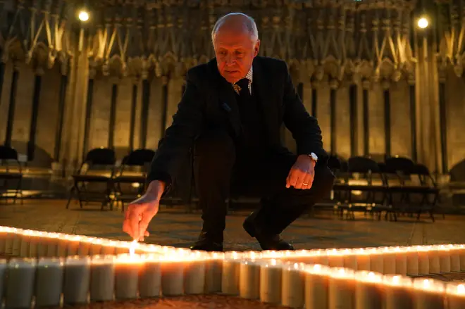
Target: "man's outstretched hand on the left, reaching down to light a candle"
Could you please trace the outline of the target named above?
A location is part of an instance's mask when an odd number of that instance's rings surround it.
[[[149,236],[147,227],[151,219],[159,212],[161,194],[165,190],[165,183],[154,180],[150,182],[143,196],[129,204],[125,211],[123,231],[132,239],[144,241]]]

